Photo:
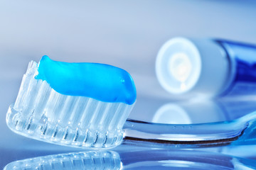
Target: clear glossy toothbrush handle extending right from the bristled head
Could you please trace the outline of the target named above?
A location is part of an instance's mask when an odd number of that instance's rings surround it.
[[[142,145],[161,143],[175,147],[225,145],[237,140],[247,125],[248,122],[242,119],[187,125],[127,119],[124,124],[124,142]]]

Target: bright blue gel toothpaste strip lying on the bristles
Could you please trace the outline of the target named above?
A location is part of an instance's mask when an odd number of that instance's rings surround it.
[[[55,91],[69,96],[129,105],[137,96],[130,74],[108,64],[57,62],[45,55],[35,78],[46,80]]]

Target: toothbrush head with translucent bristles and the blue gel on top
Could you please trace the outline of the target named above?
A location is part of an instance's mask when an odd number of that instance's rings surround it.
[[[28,64],[6,123],[36,140],[110,148],[122,142],[122,127],[135,101],[134,81],[124,69],[43,56],[39,64]]]

